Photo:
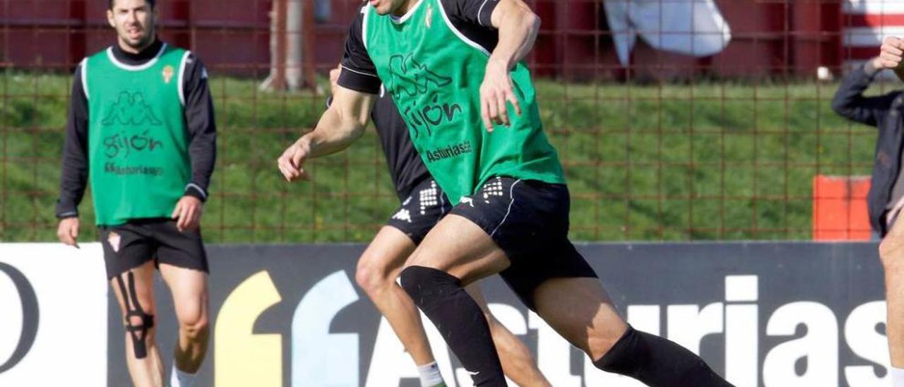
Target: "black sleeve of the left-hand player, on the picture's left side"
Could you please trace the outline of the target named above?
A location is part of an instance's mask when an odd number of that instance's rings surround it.
[[[88,185],[88,96],[82,87],[82,65],[75,69],[69,114],[66,117],[60,198],[55,208],[56,216],[60,219],[79,216],[79,203]]]

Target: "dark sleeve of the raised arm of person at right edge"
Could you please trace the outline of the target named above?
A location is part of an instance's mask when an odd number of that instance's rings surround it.
[[[867,73],[863,66],[851,71],[835,91],[832,109],[843,118],[873,127],[878,126],[898,93],[889,93],[880,97],[863,97],[863,91],[870,87],[870,83],[877,73],[878,71]]]

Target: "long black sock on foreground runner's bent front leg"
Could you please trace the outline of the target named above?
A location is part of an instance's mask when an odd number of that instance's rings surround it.
[[[502,363],[490,326],[461,281],[445,271],[412,266],[401,272],[401,287],[437,326],[476,386],[504,386]]]

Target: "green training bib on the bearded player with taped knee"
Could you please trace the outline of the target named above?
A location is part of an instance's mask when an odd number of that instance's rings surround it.
[[[99,225],[169,217],[189,183],[182,77],[188,52],[164,44],[131,66],[111,49],[82,61],[89,176]]]

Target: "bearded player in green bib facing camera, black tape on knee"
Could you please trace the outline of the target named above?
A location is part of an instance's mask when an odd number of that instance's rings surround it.
[[[109,0],[107,19],[118,41],[81,61],[72,84],[57,234],[78,247],[78,205],[90,181],[132,382],[165,385],[155,344],[156,266],[179,322],[168,385],[191,386],[208,338],[199,223],[216,127],[207,71],[191,52],[157,39],[154,0]]]

